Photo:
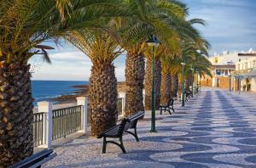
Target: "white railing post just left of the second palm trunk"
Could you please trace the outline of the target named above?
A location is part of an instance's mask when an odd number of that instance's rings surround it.
[[[79,132],[82,132],[84,134],[87,133],[87,116],[88,116],[88,98],[87,97],[78,97],[77,98],[77,104],[82,106],[81,111],[81,130]]]

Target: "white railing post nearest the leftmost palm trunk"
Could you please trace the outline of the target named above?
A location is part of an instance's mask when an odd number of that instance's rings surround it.
[[[51,148],[52,139],[52,103],[38,102],[38,113],[44,113],[43,145],[42,148]]]

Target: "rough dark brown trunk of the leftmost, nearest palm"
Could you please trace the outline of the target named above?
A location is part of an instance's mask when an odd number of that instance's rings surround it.
[[[30,65],[0,62],[0,167],[33,153]]]

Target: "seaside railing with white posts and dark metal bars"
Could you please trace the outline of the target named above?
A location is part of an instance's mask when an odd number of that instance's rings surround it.
[[[118,96],[119,116],[125,113],[125,92],[119,92]],[[42,114],[42,116],[41,116]],[[73,114],[73,119],[67,116]],[[77,98],[77,104],[72,107],[54,109],[51,102],[38,102],[38,113],[34,114],[33,135],[34,146],[38,148],[50,148],[53,140],[66,137],[73,132],[86,134],[90,126],[90,104],[87,97]],[[73,122],[77,123],[73,123]],[[67,122],[67,123],[66,123]],[[69,131],[72,128],[71,131]]]

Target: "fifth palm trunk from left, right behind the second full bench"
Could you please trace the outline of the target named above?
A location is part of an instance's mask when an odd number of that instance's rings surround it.
[[[172,77],[170,73],[162,74],[161,81],[161,104],[168,104],[171,98]]]

